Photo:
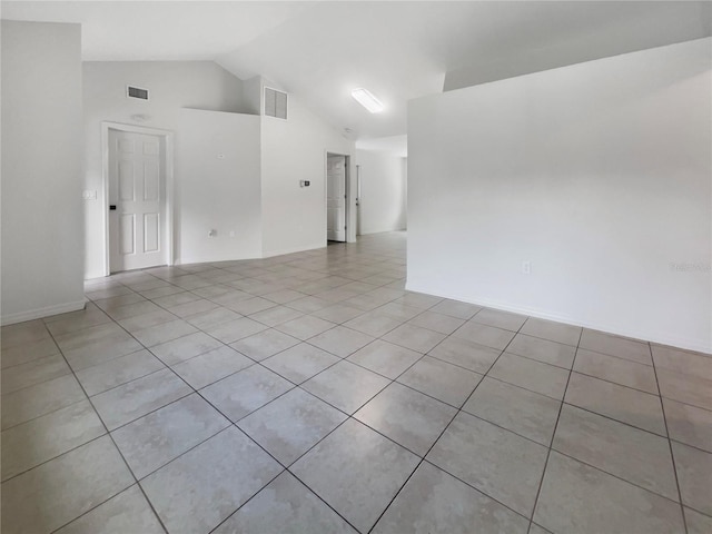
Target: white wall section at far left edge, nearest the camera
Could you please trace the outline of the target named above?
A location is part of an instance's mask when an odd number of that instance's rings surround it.
[[[3,20],[2,324],[83,307],[81,140],[80,26]]]

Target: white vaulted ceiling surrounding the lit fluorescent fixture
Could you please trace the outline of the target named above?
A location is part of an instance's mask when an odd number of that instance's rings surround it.
[[[362,140],[406,131],[406,102],[712,34],[710,2],[2,1],[2,18],[82,24],[87,61],[214,60],[279,83]],[[452,83],[451,83],[452,85]],[[350,98],[365,87],[385,111]]]

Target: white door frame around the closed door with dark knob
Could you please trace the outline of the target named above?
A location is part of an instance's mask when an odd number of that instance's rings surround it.
[[[111,274],[109,258],[109,130],[162,137],[165,142],[164,172],[166,176],[166,265],[174,265],[174,132],[159,128],[101,121],[101,172],[103,175],[103,276]]]

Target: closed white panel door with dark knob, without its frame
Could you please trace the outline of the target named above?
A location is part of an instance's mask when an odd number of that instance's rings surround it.
[[[109,130],[111,273],[166,265],[162,139]]]

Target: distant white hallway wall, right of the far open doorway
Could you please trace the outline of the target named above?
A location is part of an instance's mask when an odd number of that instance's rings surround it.
[[[405,230],[406,158],[356,150],[360,169],[359,234]]]

